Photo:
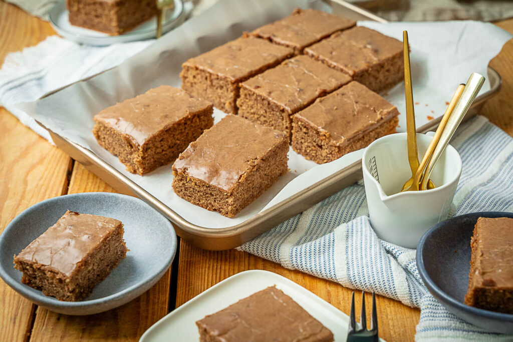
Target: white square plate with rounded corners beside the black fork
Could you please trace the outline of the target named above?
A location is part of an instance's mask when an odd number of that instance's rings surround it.
[[[235,274],[195,296],[152,325],[139,342],[164,342],[171,337],[175,341],[198,341],[196,320],[274,285],[331,330],[335,341],[346,340],[349,317],[345,313],[281,275],[251,270]]]

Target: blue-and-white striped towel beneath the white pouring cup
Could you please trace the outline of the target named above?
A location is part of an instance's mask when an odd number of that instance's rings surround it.
[[[463,172],[450,215],[513,211],[513,138],[478,116],[460,127],[451,144],[461,155]],[[372,230],[362,181],[239,249],[420,308],[417,341],[513,340],[465,323],[429,294],[417,270],[416,251],[380,240]]]

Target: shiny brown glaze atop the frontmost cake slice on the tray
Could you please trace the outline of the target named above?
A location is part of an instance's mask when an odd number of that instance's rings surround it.
[[[175,160],[173,171],[229,191],[284,139],[281,131],[227,115],[189,144]]]

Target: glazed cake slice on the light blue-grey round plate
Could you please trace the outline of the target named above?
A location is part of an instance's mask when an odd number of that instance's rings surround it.
[[[123,233],[119,220],[68,210],[14,256],[14,267],[47,296],[82,300],[125,258]]]

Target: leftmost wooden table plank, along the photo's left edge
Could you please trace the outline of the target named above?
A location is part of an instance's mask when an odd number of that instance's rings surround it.
[[[50,25],[0,2],[0,64],[5,55],[54,34]],[[20,212],[66,193],[71,159],[0,108],[0,232]],[[36,306],[0,280],[0,337],[28,337]]]

